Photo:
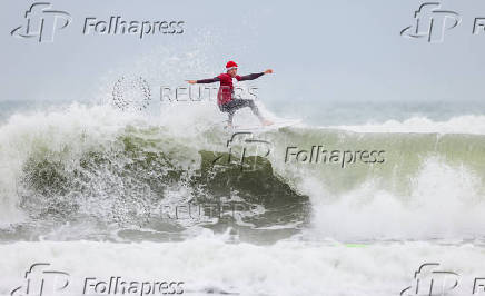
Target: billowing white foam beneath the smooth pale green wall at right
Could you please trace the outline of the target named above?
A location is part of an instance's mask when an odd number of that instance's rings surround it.
[[[308,178],[301,185],[311,197],[314,210],[307,235],[342,240],[483,236],[485,200],[476,174],[430,158],[412,184],[409,195],[396,195],[370,179],[335,197],[319,181]]]

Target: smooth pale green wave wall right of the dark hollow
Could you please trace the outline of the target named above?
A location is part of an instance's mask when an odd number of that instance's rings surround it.
[[[436,159],[444,166],[469,170],[479,178],[479,189],[484,189],[484,136],[356,134],[298,128],[280,130],[269,138],[274,142],[271,161],[293,177],[293,184],[310,175],[330,193],[342,194],[372,179],[378,182],[378,188],[406,196],[425,164]],[[299,159],[298,152],[301,152]]]

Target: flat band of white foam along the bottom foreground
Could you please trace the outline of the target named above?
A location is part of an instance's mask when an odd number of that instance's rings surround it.
[[[212,290],[271,296],[388,296],[412,286],[414,273],[425,263],[439,263],[436,270],[457,273],[455,292],[472,290],[473,278],[485,275],[484,249],[469,244],[345,246],[280,241],[255,246],[227,244],[224,236],[207,231],[181,243],[14,243],[0,245],[0,251],[1,295],[24,285],[24,272],[34,263],[49,263],[49,269],[68,273],[70,284],[65,292],[70,295],[81,294],[86,277],[182,280],[187,295],[209,295],[204,292]]]

